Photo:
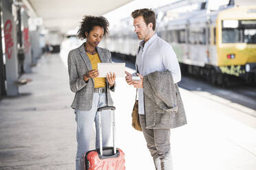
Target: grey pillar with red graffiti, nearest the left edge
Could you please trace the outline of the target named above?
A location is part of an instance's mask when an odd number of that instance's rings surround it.
[[[6,47],[6,82],[7,95],[19,95],[18,84],[18,58],[17,58],[17,32],[14,17],[12,16],[12,0],[3,0],[3,29]]]

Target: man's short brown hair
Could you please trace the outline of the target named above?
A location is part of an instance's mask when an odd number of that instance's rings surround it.
[[[140,10],[135,10],[134,12],[131,12],[131,16],[135,19],[138,16],[143,16],[143,19],[147,25],[149,23],[153,23],[153,30],[156,28],[156,14],[151,9],[143,8]]]

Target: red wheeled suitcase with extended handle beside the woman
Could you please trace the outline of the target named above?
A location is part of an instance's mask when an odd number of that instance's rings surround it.
[[[113,144],[114,147],[102,146],[102,125],[101,125],[101,111],[111,110],[112,126],[113,126]],[[100,148],[87,151],[85,154],[85,170],[125,170],[125,154],[121,149],[116,149],[116,127],[115,127],[115,114],[114,106],[104,106],[98,108],[99,114],[99,130],[100,130]]]

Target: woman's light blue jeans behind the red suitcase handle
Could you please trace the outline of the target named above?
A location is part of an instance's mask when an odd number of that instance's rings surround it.
[[[76,152],[76,170],[84,170],[85,167],[85,153],[89,149],[95,149],[100,147],[99,127],[98,127],[98,112],[97,109],[106,106],[106,94],[94,93],[94,99],[92,102],[91,110],[75,110],[76,112],[76,140],[77,140],[77,152]],[[111,136],[111,111],[103,110],[101,112],[101,123],[103,127],[103,147],[108,147],[110,144]],[[96,135],[95,135],[95,130]],[[94,136],[96,139],[94,140]],[[90,147],[90,143],[94,143],[94,148]]]

